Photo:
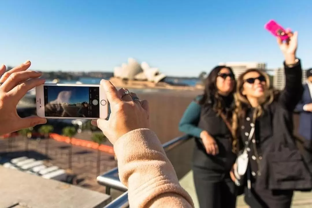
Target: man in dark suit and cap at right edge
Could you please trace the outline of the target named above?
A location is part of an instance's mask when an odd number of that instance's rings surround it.
[[[304,85],[304,92],[300,103],[295,111],[300,113],[299,135],[311,144],[312,141],[312,68],[306,72],[307,83]],[[310,145],[309,145],[310,146]]]

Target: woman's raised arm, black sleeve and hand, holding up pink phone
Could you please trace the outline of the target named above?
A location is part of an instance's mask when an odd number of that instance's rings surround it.
[[[296,58],[298,32],[286,32],[289,35],[289,41],[282,42],[278,39],[280,50],[285,57],[284,68],[286,80],[285,88],[279,96],[279,102],[285,109],[293,111],[303,94],[302,69],[300,60]]]

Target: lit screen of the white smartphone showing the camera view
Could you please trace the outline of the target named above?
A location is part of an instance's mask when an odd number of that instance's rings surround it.
[[[46,117],[99,118],[99,87],[43,86]]]

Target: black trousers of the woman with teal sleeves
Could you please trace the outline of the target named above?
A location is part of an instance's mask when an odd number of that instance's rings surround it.
[[[200,208],[235,208],[236,186],[229,173],[193,166]]]

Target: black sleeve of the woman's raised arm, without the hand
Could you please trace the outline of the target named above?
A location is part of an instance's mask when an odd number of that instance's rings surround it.
[[[303,94],[302,68],[300,60],[292,67],[287,66],[284,62],[284,67],[286,84],[280,93],[279,102],[285,109],[292,112]]]

